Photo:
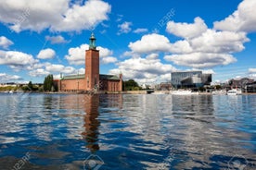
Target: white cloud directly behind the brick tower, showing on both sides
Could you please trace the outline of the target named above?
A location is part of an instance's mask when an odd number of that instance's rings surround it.
[[[79,47],[69,49],[69,55],[65,58],[69,61],[70,65],[84,65],[85,63],[85,50],[89,49],[88,44],[82,44]],[[99,57],[102,64],[114,63],[117,61],[116,57],[111,56],[113,52],[108,48],[98,46]]]

